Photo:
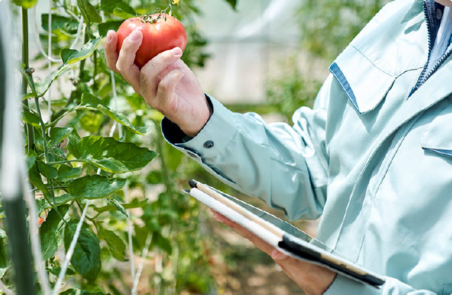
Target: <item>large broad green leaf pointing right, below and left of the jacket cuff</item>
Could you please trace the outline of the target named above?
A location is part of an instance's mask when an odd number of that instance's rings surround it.
[[[69,137],[69,141],[71,140]],[[120,143],[114,138],[101,136],[86,136],[78,142],[77,148],[75,143],[71,143],[68,150],[77,159],[111,173],[137,171],[158,155],[146,147]]]

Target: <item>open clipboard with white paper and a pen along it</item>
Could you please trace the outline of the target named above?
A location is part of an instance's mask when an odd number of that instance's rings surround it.
[[[290,223],[193,179],[189,181],[189,185],[191,190],[184,192],[239,223],[282,253],[321,265],[373,287],[384,284],[385,280],[381,275],[352,263],[339,252],[330,249]]]

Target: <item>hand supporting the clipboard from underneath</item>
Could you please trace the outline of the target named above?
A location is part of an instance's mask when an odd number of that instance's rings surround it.
[[[229,226],[238,232],[239,235],[250,240],[260,250],[270,255],[281,266],[284,273],[296,282],[307,295],[320,295],[325,293],[336,278],[337,273],[334,273],[332,270],[282,254],[270,246],[270,244],[260,239],[260,237],[254,235],[253,232],[246,230],[246,228],[213,211],[213,209],[211,211],[215,220]]]

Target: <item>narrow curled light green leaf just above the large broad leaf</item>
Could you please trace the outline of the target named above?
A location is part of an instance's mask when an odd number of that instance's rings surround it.
[[[80,105],[77,105],[77,107],[75,107],[75,110],[98,110],[100,112],[103,112],[103,114],[106,114],[108,117],[111,117],[111,119],[115,120],[116,122],[123,124],[128,129],[130,129],[130,131],[139,135],[145,135],[150,131],[150,129],[146,127],[133,126],[124,114],[116,112],[115,110],[111,110],[111,108],[107,107],[107,105],[102,100],[87,92],[83,93],[82,103]]]

